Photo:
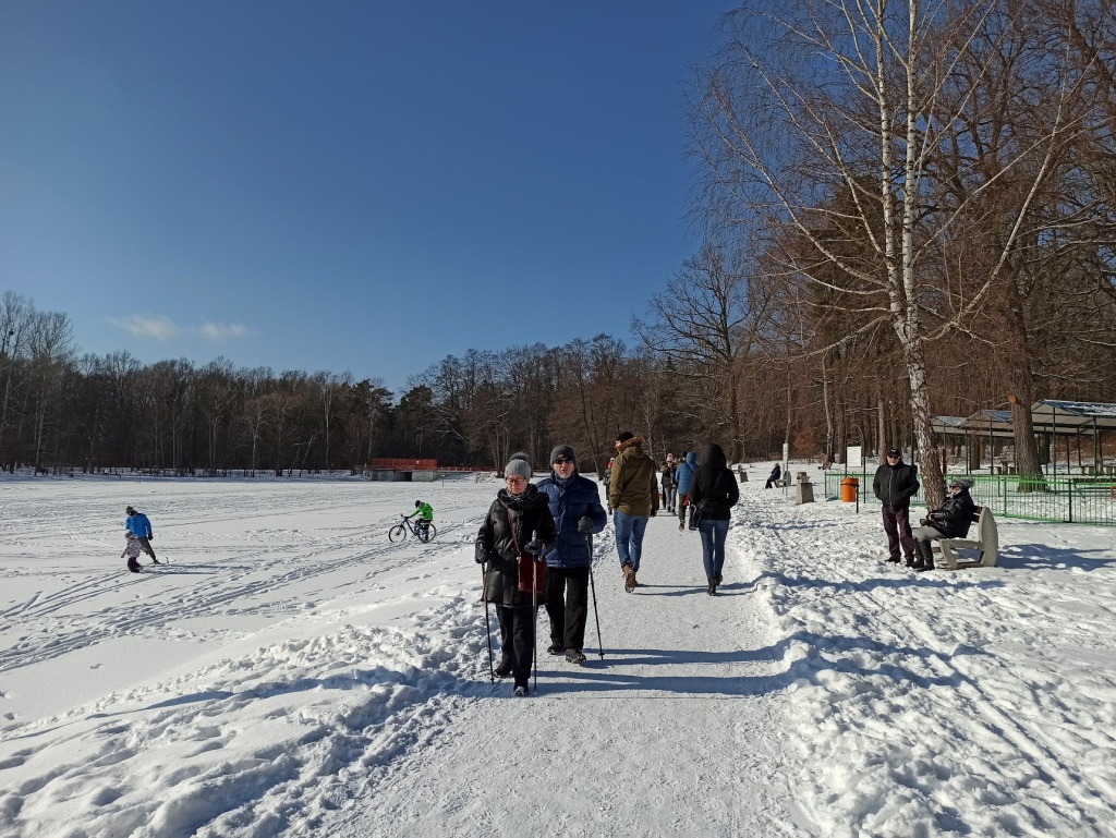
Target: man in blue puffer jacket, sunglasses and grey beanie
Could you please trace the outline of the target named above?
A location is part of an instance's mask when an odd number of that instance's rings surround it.
[[[584,664],[585,625],[589,618],[589,537],[605,529],[608,516],[600,505],[597,484],[577,472],[577,457],[569,445],[550,452],[550,474],[539,481],[555,519],[558,540],[547,553],[547,616],[550,645],[547,652],[571,664]]]

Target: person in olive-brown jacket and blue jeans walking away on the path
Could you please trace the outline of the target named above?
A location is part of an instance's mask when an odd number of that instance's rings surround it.
[[[631,431],[617,434],[608,505],[613,509],[616,552],[624,572],[624,589],[628,594],[636,588],[647,519],[658,511],[657,473],[655,461],[643,453],[642,439]]]

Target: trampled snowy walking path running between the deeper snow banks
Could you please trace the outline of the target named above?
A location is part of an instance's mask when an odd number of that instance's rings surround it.
[[[739,581],[752,568],[730,559],[723,594],[708,596],[698,534],[665,516],[651,521],[635,594],[610,537],[595,555],[604,661],[590,615],[585,667],[543,651],[535,699],[485,688],[446,741],[400,760],[330,834],[792,834],[781,666]],[[541,648],[545,615],[539,626]]]

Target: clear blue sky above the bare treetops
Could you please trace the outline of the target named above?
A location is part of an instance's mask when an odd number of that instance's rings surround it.
[[[728,0],[0,4],[0,291],[83,351],[350,370],[629,339],[698,248]]]

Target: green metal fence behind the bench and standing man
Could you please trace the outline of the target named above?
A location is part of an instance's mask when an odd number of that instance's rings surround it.
[[[860,481],[860,503],[879,503],[872,492],[873,474],[847,475]],[[840,482],[845,476],[840,472],[826,472],[826,499],[840,498]],[[1116,479],[1112,476],[962,476],[972,481],[969,493],[977,505],[989,507],[998,518],[1116,527]],[[920,489],[911,505],[925,507],[925,503]]]

